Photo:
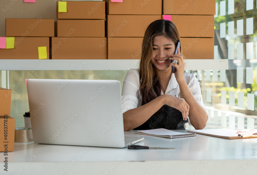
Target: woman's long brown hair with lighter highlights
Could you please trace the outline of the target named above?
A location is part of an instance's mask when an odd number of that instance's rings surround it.
[[[137,92],[141,92],[142,105],[161,95],[162,86],[160,76],[158,76],[155,66],[151,62],[153,54],[152,41],[156,36],[164,36],[173,41],[175,45],[177,45],[178,41],[180,42],[177,27],[169,20],[153,21],[146,28],[142,43],[142,54],[139,70],[140,88]],[[182,55],[181,48],[182,47],[180,44],[180,54]],[[159,112],[161,112],[161,110],[159,110]]]

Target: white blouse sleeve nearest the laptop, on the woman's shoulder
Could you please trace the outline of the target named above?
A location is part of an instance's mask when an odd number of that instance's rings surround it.
[[[122,113],[137,108],[139,90],[139,74],[136,69],[130,69],[125,76],[121,93]]]

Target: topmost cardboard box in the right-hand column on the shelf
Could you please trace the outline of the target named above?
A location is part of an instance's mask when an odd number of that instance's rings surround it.
[[[216,0],[163,0],[163,14],[215,15]]]

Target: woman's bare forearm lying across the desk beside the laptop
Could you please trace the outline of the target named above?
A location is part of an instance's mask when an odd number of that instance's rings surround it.
[[[139,127],[146,122],[155,112],[157,112],[163,105],[165,100],[163,95],[155,98],[149,103],[130,109],[123,113],[124,131],[128,131]]]

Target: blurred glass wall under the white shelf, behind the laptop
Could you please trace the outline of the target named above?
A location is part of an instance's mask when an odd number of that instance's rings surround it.
[[[29,102],[25,79],[72,79],[119,80],[121,90],[128,71],[9,71],[10,89],[12,89],[11,116],[15,118],[15,127],[24,127],[23,114],[29,111]]]

